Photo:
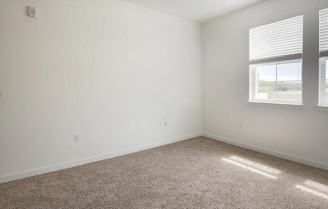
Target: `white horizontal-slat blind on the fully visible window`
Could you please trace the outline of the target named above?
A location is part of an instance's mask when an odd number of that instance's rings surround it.
[[[251,64],[301,59],[302,51],[303,16],[250,29]]]

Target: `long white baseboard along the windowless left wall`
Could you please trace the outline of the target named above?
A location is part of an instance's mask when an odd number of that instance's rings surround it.
[[[200,136],[202,136],[201,133],[196,133],[196,134],[192,134],[192,135],[188,135],[188,136],[184,136],[184,137],[178,137],[178,138],[174,138],[174,139],[170,139],[170,140],[156,142],[156,143],[148,144],[148,145],[142,145],[139,147],[134,147],[134,148],[120,150],[120,151],[111,152],[111,153],[107,153],[107,154],[97,155],[97,156],[93,156],[93,157],[89,157],[89,158],[74,160],[74,161],[60,163],[60,164],[51,165],[51,166],[42,167],[42,168],[36,168],[36,169],[22,171],[22,172],[18,172],[18,173],[12,173],[9,175],[0,176],[0,183],[13,181],[13,180],[17,180],[17,179],[21,179],[21,178],[25,178],[25,177],[40,175],[40,174],[48,173],[48,172],[52,172],[52,171],[62,170],[65,168],[71,168],[71,167],[84,165],[84,164],[88,164],[88,163],[92,163],[92,162],[96,162],[96,161],[100,161],[100,160],[106,160],[106,159],[110,159],[113,157],[118,157],[118,156],[130,154],[133,152],[147,150],[147,149],[151,149],[154,147],[159,147],[162,145],[167,145],[167,144],[171,144],[171,143],[175,143],[175,142],[179,142],[179,141],[183,141],[183,140],[187,140],[187,139],[191,139],[191,138],[195,138],[195,137],[200,137]]]

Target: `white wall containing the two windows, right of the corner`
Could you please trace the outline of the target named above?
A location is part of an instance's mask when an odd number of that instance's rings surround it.
[[[328,1],[269,0],[202,26],[206,136],[328,169],[328,113],[315,109],[318,8],[324,5]],[[303,109],[249,106],[249,29],[300,14],[304,15]]]

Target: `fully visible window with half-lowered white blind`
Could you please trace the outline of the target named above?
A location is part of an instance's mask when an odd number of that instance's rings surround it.
[[[303,16],[250,30],[250,101],[302,103]]]

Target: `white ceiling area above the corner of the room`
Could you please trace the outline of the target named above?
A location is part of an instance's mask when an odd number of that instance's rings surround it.
[[[173,16],[206,22],[263,0],[125,0]]]

